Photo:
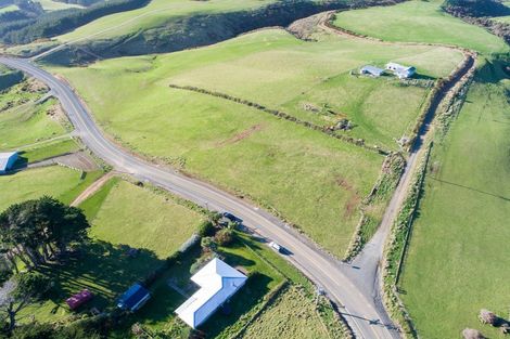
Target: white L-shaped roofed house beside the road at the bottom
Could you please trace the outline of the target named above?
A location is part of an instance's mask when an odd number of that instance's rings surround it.
[[[191,277],[201,289],[184,301],[176,313],[184,323],[196,328],[232,297],[246,279],[244,274],[215,258]]]

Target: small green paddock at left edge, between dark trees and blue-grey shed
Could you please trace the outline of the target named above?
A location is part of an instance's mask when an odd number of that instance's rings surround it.
[[[61,166],[50,166],[0,175],[0,210],[10,205],[49,195],[69,204],[100,171],[89,172],[81,180],[81,172]]]

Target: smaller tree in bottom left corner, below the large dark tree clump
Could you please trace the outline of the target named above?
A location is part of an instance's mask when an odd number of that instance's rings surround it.
[[[31,271],[20,273],[13,279],[4,284],[8,294],[2,300],[0,313],[3,315],[8,331],[12,333],[16,326],[16,315],[25,307],[40,300],[51,287],[50,278],[41,273]]]

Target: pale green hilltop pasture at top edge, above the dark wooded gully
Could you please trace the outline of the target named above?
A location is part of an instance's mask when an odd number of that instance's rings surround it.
[[[88,39],[92,36],[94,37],[93,39],[109,39],[161,27],[171,19],[181,16],[251,10],[273,2],[276,0],[154,0],[138,10],[116,13],[95,19],[74,31],[56,37],[56,40],[68,42]]]

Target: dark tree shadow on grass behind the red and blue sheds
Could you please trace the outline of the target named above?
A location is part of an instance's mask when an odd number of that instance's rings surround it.
[[[54,283],[49,299],[56,304],[65,307],[66,298],[87,288],[94,298],[86,308],[102,310],[162,262],[148,249],[140,249],[137,257],[131,258],[125,246],[95,240],[82,245],[76,255],[61,263],[44,264],[38,270]]]

